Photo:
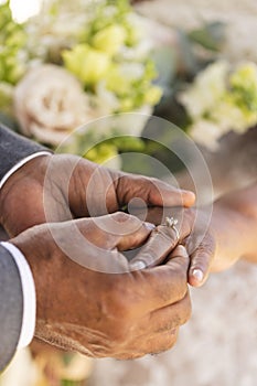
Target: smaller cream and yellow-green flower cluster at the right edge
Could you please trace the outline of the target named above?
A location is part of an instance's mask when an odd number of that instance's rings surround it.
[[[199,73],[180,100],[191,118],[189,133],[215,150],[228,131],[244,133],[257,124],[257,65],[216,61]]]

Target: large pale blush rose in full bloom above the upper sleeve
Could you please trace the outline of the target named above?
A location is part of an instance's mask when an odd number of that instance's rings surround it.
[[[95,118],[79,82],[50,64],[31,69],[18,84],[14,112],[25,136],[54,146]]]

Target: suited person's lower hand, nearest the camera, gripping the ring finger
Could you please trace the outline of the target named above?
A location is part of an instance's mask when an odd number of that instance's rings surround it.
[[[103,230],[110,221],[126,230],[125,236]],[[74,225],[92,245],[89,256],[74,239]],[[33,272],[35,336],[94,357],[133,358],[170,349],[191,313],[189,257],[181,246],[165,265],[129,271],[120,250],[140,246],[149,234],[138,218],[116,213],[39,225],[11,239]],[[72,259],[63,253],[66,248],[73,251]],[[99,250],[105,251],[107,267],[121,274],[92,270],[73,260],[77,256],[81,264],[97,260]]]

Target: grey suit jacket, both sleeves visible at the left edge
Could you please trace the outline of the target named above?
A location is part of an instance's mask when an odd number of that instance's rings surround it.
[[[0,180],[19,161],[45,150],[0,125]],[[1,208],[0,208],[1,211]],[[20,274],[12,255],[0,245],[0,371],[13,357],[23,317]]]

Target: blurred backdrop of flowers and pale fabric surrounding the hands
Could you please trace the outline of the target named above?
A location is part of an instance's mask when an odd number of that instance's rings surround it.
[[[0,119],[13,130],[127,171],[135,165],[122,154],[149,154],[192,187],[160,144],[170,139],[158,127],[157,142],[143,137],[154,115],[199,146],[216,197],[256,180],[256,0],[0,4]],[[128,122],[129,112],[140,119]],[[146,165],[138,172],[152,174]],[[239,261],[191,290],[193,317],[172,351],[93,361],[33,342],[0,385],[255,386],[256,292],[257,267]]]

